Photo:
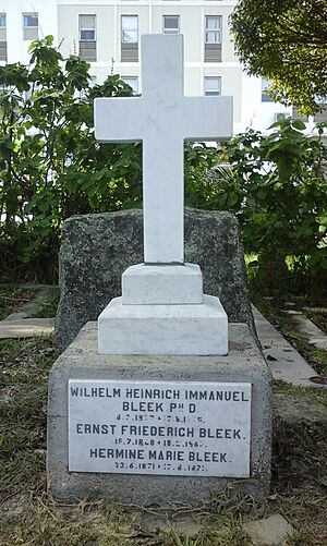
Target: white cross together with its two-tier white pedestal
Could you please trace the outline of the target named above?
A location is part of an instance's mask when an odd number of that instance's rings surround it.
[[[142,97],[95,100],[102,142],[143,142],[144,264],[98,319],[104,354],[227,354],[228,318],[184,264],[184,139],[227,139],[231,97],[184,97],[183,36],[142,36]]]

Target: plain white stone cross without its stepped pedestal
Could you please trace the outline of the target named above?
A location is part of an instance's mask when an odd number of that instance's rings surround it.
[[[184,139],[232,134],[231,97],[184,97],[183,36],[142,36],[142,97],[97,98],[101,142],[143,142],[144,260],[184,262]]]

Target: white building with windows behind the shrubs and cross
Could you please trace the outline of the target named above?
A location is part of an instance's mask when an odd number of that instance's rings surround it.
[[[228,19],[237,0],[0,0],[0,62],[27,62],[31,40],[51,34],[63,56],[81,54],[101,83],[113,70],[142,93],[140,36],[184,35],[185,95],[232,95],[234,132],[265,131],[291,109],[246,75]]]

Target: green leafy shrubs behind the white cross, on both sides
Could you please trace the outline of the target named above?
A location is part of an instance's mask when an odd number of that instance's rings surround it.
[[[95,139],[95,97],[132,95],[118,75],[92,86],[89,65],[63,59],[51,37],[29,51],[29,66],[0,68],[2,279],[51,282],[65,218],[142,206],[142,146]],[[288,119],[218,150],[185,145],[185,204],[238,216],[252,271],[270,290],[326,280],[326,145],[323,128],[315,137],[304,129]]]

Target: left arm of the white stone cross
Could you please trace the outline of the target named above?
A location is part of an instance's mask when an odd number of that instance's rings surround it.
[[[112,143],[142,141],[143,104],[142,97],[96,98],[96,139]]]

